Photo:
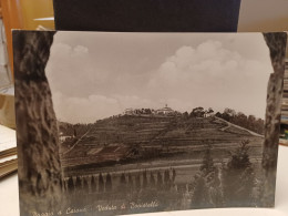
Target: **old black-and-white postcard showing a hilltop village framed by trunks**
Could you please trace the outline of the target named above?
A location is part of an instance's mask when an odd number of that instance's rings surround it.
[[[21,213],[272,206],[270,38],[13,32]]]

